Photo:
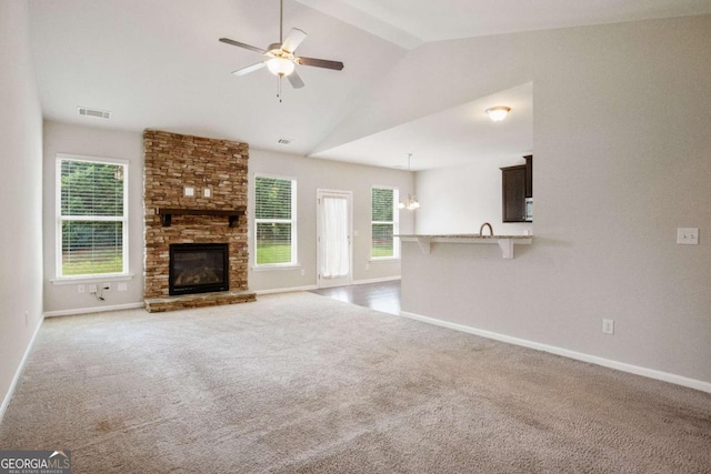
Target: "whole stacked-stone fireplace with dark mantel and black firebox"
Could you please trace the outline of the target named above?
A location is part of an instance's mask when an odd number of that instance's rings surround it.
[[[247,143],[143,132],[151,312],[254,301],[247,284]]]

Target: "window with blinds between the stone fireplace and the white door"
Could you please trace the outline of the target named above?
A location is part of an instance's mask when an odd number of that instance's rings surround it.
[[[257,265],[297,264],[297,182],[254,178]]]

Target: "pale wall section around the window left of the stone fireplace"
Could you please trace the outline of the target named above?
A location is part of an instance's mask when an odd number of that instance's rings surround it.
[[[87,118],[88,123],[96,118]],[[112,282],[103,301],[89,292],[80,294],[78,283],[57,282],[56,159],[58,153],[129,161],[129,273],[128,291],[117,291],[111,279],[82,281],[81,284]],[[44,123],[44,311],[47,314],[97,310],[143,302],[143,134],[92,127]],[[87,290],[87,286],[84,286]]]

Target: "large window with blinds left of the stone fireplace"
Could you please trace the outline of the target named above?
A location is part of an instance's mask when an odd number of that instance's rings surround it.
[[[57,157],[57,276],[128,273],[128,163]]]

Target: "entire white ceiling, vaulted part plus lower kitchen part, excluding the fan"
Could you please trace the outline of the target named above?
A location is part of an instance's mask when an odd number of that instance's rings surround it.
[[[283,85],[221,37],[266,48],[279,40],[278,0],[30,0],[31,41],[47,119],[91,127],[246,141],[309,155],[410,49],[423,42],[513,31],[711,13],[709,0],[284,0],[284,30],[309,37],[298,54],[343,61],[343,71],[298,67]],[[507,104],[491,123],[487,107]],[[77,108],[108,110],[110,120]],[[284,147],[279,139],[291,139]],[[318,158],[428,169],[532,147],[532,85],[420,118]],[[378,150],[378,152],[373,152]]]

